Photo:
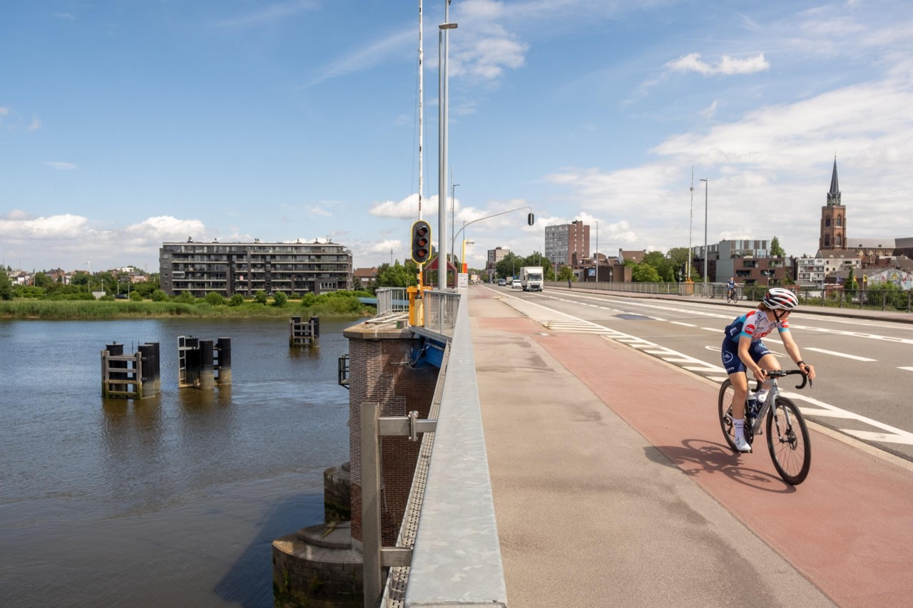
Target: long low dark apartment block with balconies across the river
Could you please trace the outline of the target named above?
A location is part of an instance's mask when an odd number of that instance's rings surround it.
[[[169,296],[257,291],[314,293],[352,288],[352,251],[338,243],[163,243],[160,283]]]

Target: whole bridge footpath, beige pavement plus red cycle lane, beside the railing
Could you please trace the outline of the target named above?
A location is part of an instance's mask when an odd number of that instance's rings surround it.
[[[488,288],[469,311],[509,605],[886,605],[913,594],[908,463],[813,431],[811,474],[737,456],[718,386]],[[893,457],[892,457],[893,458]]]

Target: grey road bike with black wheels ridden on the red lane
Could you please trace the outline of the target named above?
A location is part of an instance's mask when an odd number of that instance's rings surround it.
[[[767,433],[767,447],[771,452],[773,467],[777,469],[783,481],[792,486],[801,484],[808,477],[809,467],[812,466],[812,443],[809,440],[808,427],[799,411],[799,407],[792,400],[782,396],[777,386],[777,378],[800,374],[802,384],[796,385],[802,389],[812,382],[800,370],[774,370],[767,372],[767,380],[758,382],[754,391],[749,391],[745,404],[745,439],[749,445],[755,435],[763,435],[761,421],[767,418],[765,425]],[[764,403],[759,404],[754,398],[761,386],[767,385],[769,391],[764,398]],[[727,378],[719,387],[719,427],[726,437],[726,443],[733,450],[736,449],[735,430],[732,425],[732,395],[735,390]],[[772,404],[772,407],[771,407]]]

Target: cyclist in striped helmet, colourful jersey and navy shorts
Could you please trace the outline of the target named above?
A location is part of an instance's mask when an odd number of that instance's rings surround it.
[[[757,309],[740,316],[726,327],[723,339],[723,367],[732,383],[732,426],[736,449],[750,452],[751,446],[745,440],[745,398],[748,396],[748,370],[763,381],[765,370],[779,370],[780,363],[767,350],[761,338],[776,329],[780,333],[783,348],[799,369],[814,379],[814,368],[802,360],[799,347],[792,340],[789,315],[799,305],[799,299],[789,289],[770,288],[761,299]]]

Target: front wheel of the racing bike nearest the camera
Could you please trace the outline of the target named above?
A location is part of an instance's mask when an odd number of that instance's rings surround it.
[[[777,473],[797,486],[812,466],[812,443],[799,408],[785,397],[777,397],[767,416],[767,447]]]

